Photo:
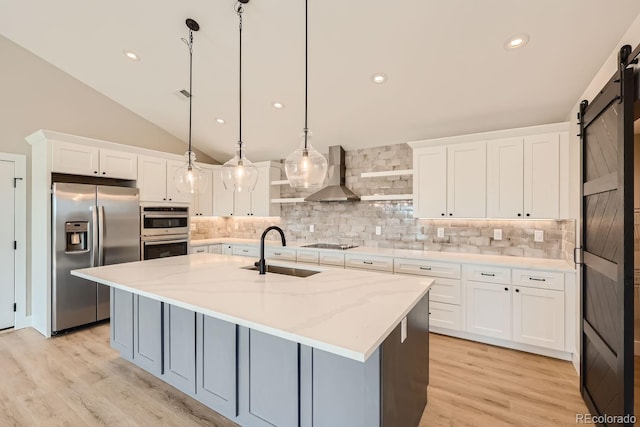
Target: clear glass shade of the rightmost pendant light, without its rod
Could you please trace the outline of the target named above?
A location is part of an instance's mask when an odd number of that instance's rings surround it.
[[[296,188],[317,189],[327,176],[327,159],[311,146],[311,136],[302,136],[302,143],[284,161],[284,171],[289,185]]]

